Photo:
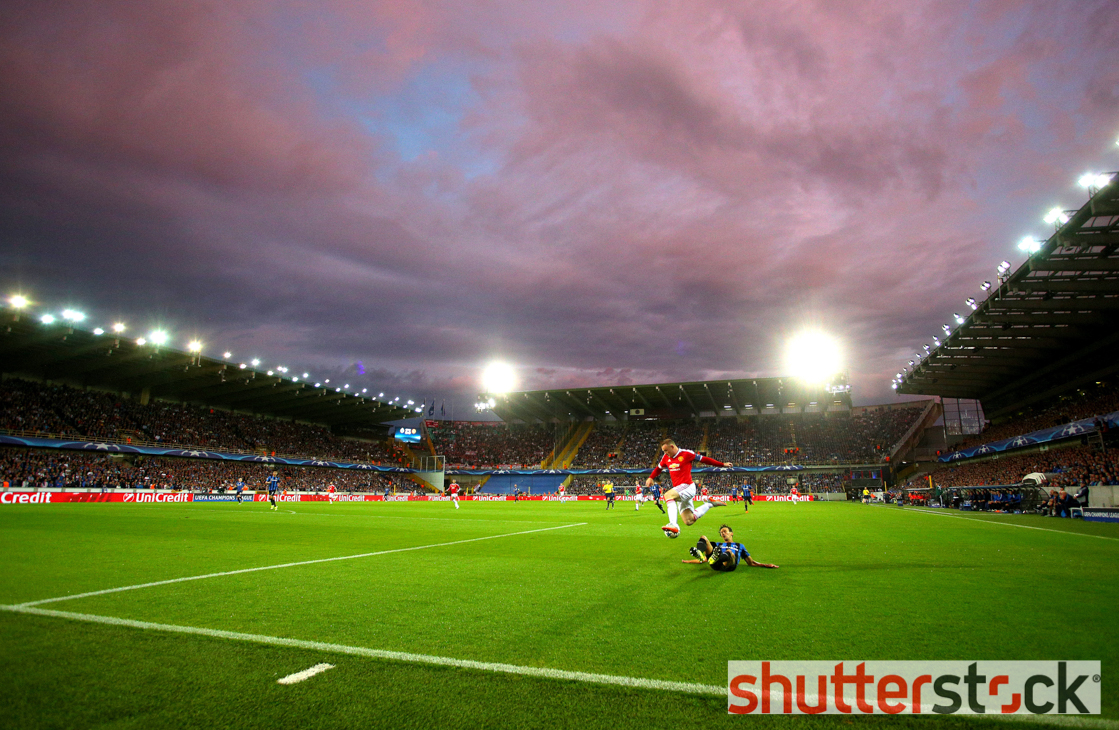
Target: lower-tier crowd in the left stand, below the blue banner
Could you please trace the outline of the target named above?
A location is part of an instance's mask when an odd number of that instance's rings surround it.
[[[411,492],[417,488],[415,481],[402,475],[349,469],[0,448],[0,483],[7,483],[10,488],[232,492],[237,479],[243,479],[246,489],[263,490],[264,479],[273,470],[279,472],[281,487],[292,492],[325,492],[331,484],[336,492]]]

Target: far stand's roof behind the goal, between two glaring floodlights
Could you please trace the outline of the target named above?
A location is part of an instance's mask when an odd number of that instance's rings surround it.
[[[761,412],[820,411],[839,404],[850,408],[846,383],[838,386],[806,385],[793,378],[749,380],[564,387],[496,395],[491,410],[504,421],[594,420],[631,418],[686,419],[718,414],[749,415]],[[643,411],[643,413],[633,413]]]

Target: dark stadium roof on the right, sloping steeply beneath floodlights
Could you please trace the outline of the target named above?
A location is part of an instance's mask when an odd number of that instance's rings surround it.
[[[1054,217],[1040,250],[914,358],[899,393],[978,399],[998,418],[1119,371],[1119,177]]]

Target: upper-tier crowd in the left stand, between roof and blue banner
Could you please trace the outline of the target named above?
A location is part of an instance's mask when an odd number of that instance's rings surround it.
[[[182,403],[141,404],[113,393],[19,378],[0,383],[0,429],[92,441],[407,464],[405,453],[382,441],[341,438],[321,425]]]

